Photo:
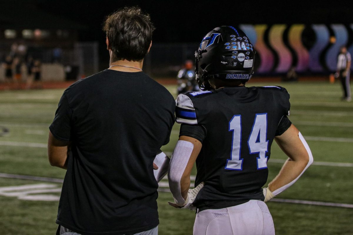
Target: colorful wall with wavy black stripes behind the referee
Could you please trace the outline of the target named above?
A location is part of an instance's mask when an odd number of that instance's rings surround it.
[[[257,51],[256,71],[286,73],[292,66],[301,73],[336,70],[340,47],[353,54],[353,24],[239,25]]]

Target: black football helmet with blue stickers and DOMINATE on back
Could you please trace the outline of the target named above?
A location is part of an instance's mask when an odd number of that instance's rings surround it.
[[[249,81],[254,73],[255,49],[240,29],[221,26],[207,33],[195,52],[195,75],[202,90],[212,89],[209,78]]]

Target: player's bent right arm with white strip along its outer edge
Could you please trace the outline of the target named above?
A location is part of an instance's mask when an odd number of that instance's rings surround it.
[[[309,146],[293,124],[282,135],[276,136],[275,141],[289,158],[265,188],[265,202],[294,184],[313,162]]]

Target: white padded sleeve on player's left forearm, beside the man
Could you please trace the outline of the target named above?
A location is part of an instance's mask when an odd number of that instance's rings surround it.
[[[187,163],[189,162],[192,150],[194,149],[193,143],[189,141],[179,140],[175,146],[173,155],[170,159],[168,170],[168,182],[170,192],[173,194],[175,203],[180,206],[185,204],[185,199],[181,196],[180,180],[183,176]]]

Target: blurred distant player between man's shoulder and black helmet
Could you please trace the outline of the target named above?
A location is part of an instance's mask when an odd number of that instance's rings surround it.
[[[199,91],[195,79],[195,66],[192,60],[187,60],[178,72],[178,94]]]

